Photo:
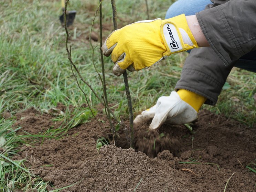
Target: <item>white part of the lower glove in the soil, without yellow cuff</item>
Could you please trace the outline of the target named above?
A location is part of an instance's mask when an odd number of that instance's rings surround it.
[[[184,102],[177,92],[171,92],[170,96],[162,96],[157,100],[157,104],[142,111],[134,119],[135,126],[151,120],[150,129],[159,128],[164,122],[181,125],[189,123],[197,118],[197,111],[188,103]]]

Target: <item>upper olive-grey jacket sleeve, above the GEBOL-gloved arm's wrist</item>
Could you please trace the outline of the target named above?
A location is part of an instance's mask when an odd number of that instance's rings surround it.
[[[256,0],[212,2],[196,17],[213,51],[227,66],[256,50]]]

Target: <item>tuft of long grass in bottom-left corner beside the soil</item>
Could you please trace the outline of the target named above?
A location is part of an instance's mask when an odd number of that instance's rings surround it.
[[[23,137],[16,135],[20,127],[12,128],[12,124],[12,120],[0,119],[0,190],[12,191],[22,188],[24,191],[46,191],[49,183],[24,168],[24,160],[11,159],[13,154],[17,153],[18,146],[24,143]]]

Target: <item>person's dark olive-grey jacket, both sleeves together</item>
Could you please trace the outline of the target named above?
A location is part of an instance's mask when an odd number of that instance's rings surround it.
[[[256,0],[211,1],[196,13],[211,47],[191,50],[175,90],[190,90],[215,105],[237,59],[255,50]]]

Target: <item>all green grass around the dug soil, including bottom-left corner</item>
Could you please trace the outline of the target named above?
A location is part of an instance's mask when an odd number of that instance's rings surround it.
[[[148,3],[150,19],[153,19],[164,18],[171,2],[158,0]],[[112,11],[108,1],[104,1],[103,5],[103,36],[106,38],[113,30]],[[70,42],[74,42],[73,61],[86,81],[102,97],[102,87],[92,65],[92,49],[86,40],[97,6],[96,0],[71,1],[70,10],[76,10],[77,15],[70,29]],[[119,28],[147,18],[144,0],[131,0],[126,3],[117,1],[116,6]],[[85,122],[84,113],[87,109],[81,107],[85,103],[85,98],[76,85],[67,60],[64,47],[65,31],[58,20],[59,15],[62,14],[60,2],[1,1],[0,11],[2,13],[0,16],[0,144],[3,144],[1,148],[4,149],[1,152],[0,189],[11,190],[15,186],[24,189],[23,191],[29,189],[45,191],[49,183],[34,177],[29,169],[25,168],[23,160],[13,163],[10,161],[11,157],[17,153],[25,137],[56,137],[61,132]],[[97,23],[98,18],[93,29],[96,33],[99,32]],[[97,46],[94,50],[94,61],[100,71],[99,42],[93,42],[93,46]],[[170,94],[179,79],[187,55],[187,53],[175,54],[149,69],[128,73],[135,116],[155,104],[158,97]],[[117,107],[116,116],[128,118],[122,78],[112,74],[113,63],[110,58],[104,57],[104,62],[109,103]],[[204,106],[204,108],[253,127],[256,121],[256,106],[253,99],[256,92],[255,73],[234,69],[227,83],[229,86],[221,93],[217,105]],[[92,106],[97,105],[98,101],[90,89],[84,84],[81,86],[88,95],[89,103]],[[75,107],[74,114],[67,110],[66,113],[56,116],[54,120],[63,121],[60,128],[49,129],[41,136],[15,134],[20,129],[12,128],[17,111],[29,107],[49,111],[59,102]],[[11,120],[2,118],[6,112],[11,114]]]

